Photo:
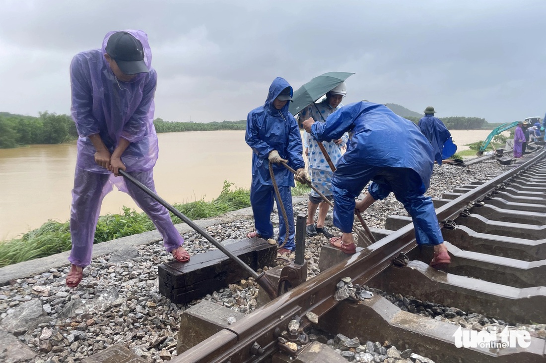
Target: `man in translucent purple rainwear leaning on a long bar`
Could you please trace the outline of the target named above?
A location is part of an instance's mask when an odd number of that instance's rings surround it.
[[[146,33],[127,30],[109,32],[102,49],[78,53],[70,64],[72,118],[79,139],[70,210],[68,287],[78,286],[83,268],[91,263],[100,204],[112,185],[127,192],[146,212],[177,261],[189,261],[167,209],[138,187],[116,178],[121,169],[155,191],[157,73],[151,61]]]

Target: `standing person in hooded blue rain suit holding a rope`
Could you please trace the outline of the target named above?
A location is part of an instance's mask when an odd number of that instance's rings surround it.
[[[294,212],[292,209],[292,187],[294,175],[281,162],[296,170],[296,180],[306,180],[305,162],[302,156],[301,135],[296,120],[288,112],[288,102],[292,101],[293,90],[281,77],[275,78],[269,87],[268,98],[263,106],[248,113],[245,141],[252,148],[252,185],[250,203],[254,214],[256,232],[247,237],[262,237],[271,241],[273,225],[271,212],[273,202],[277,202],[280,253],[295,250]],[[269,164],[275,176],[281,201],[288,217],[284,221],[280,201],[274,190],[269,172]],[[286,232],[288,228],[288,239]]]

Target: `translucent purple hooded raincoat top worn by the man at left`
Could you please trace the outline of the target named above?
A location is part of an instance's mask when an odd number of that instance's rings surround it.
[[[117,80],[104,59],[106,43],[116,32],[106,34],[101,49],[78,53],[70,65],[72,118],[80,135],[77,165],[91,172],[110,173],[94,162],[95,149],[88,136],[99,134],[110,152],[120,138],[130,142],[122,155],[127,171],[149,171],[158,154],[153,126],[157,74],[151,66],[152,52],[145,32],[126,30],[142,43],[150,72],[129,82]]]

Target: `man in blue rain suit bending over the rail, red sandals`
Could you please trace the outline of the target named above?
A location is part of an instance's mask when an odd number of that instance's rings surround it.
[[[451,262],[432,199],[424,196],[434,167],[434,149],[414,123],[397,116],[387,106],[356,102],[331,114],[325,123],[315,123],[310,118],[303,125],[318,141],[337,140],[344,132],[353,132],[332,178],[334,225],[343,235],[332,238],[331,245],[354,253],[355,207],[364,211],[393,192],[413,219],[417,243],[434,246],[432,267]],[[385,140],[392,142],[387,144]],[[368,187],[369,193],[355,203],[370,180],[373,183]]]

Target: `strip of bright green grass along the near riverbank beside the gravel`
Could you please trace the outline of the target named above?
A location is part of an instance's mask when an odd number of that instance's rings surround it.
[[[296,183],[292,195],[306,195],[310,188]],[[174,203],[173,207],[191,220],[215,217],[229,211],[250,207],[250,190],[233,188],[233,183],[224,181],[220,195],[210,202],[201,199],[189,203]],[[174,223],[182,221],[171,213]],[[108,214],[99,217],[94,243],[102,243],[133,234],[153,231],[156,227],[145,213],[123,207],[122,214]],[[50,220],[20,238],[0,242],[0,267],[29,261],[69,251],[71,247],[70,223]]]

